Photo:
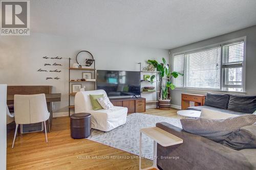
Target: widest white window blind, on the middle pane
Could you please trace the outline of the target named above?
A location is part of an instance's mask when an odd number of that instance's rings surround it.
[[[184,86],[221,88],[221,46],[185,54]]]

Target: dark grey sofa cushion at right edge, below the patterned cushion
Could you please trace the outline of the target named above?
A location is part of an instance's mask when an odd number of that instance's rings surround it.
[[[234,131],[223,140],[222,144],[234,150],[246,148],[256,149],[256,124],[245,126]]]

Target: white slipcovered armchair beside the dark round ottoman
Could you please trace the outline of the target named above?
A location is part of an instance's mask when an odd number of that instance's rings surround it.
[[[114,106],[111,110],[93,110],[90,94],[107,95],[104,90],[80,91],[75,95],[75,113],[91,113],[93,129],[108,132],[126,123],[128,111],[126,107]]]

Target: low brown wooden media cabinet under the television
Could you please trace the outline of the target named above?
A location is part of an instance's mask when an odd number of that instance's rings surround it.
[[[127,107],[128,113],[138,113],[146,111],[145,98],[120,98],[110,99],[110,101],[114,106]]]

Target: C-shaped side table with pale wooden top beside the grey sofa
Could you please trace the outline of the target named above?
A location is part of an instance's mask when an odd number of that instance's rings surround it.
[[[141,135],[145,134],[148,137],[154,140],[154,159],[153,159],[153,166],[141,169]],[[157,143],[161,144],[163,147],[169,147],[171,145],[183,143],[183,140],[173,134],[170,134],[158,127],[152,128],[142,128],[140,129],[140,161],[139,161],[139,170],[146,170],[146,169],[158,169],[157,167]]]

